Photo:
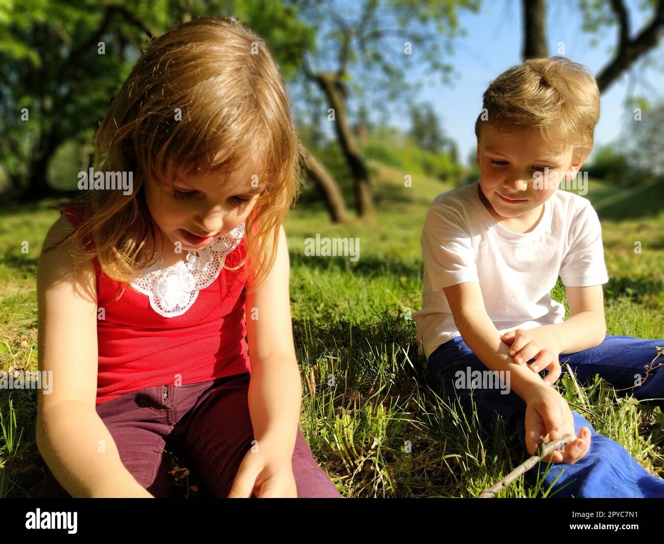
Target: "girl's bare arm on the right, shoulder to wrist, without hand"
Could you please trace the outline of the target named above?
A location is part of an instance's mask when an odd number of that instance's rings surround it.
[[[302,396],[291,327],[289,276],[286,234],[280,227],[270,277],[246,296],[251,361],[248,403],[258,448],[266,446],[270,454],[288,461],[295,447]]]

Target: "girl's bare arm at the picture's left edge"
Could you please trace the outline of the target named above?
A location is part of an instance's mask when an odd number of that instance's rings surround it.
[[[46,234],[44,248],[72,226],[64,217]],[[39,370],[52,371],[51,393],[39,390],[37,447],[60,485],[73,497],[151,495],[120,460],[116,444],[96,412],[97,293],[88,260],[78,270],[70,240],[42,251],[37,269]]]

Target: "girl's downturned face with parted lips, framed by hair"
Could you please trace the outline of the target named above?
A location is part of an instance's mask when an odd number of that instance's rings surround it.
[[[145,200],[164,249],[169,242],[173,248],[181,242],[183,249],[201,249],[244,223],[262,191],[254,170],[249,165],[226,181],[222,173],[179,177],[163,185],[146,180]]]

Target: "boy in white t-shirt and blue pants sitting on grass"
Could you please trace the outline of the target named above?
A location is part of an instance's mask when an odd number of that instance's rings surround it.
[[[554,452],[552,461],[564,464],[544,478],[548,486],[560,476],[556,496],[661,497],[664,480],[550,387],[564,355],[582,381],[598,373],[619,389],[633,387],[637,399],[661,405],[664,397],[663,369],[647,377],[643,369],[664,340],[606,334],[598,216],[588,200],[557,190],[588,157],[599,110],[592,74],[564,57],[527,60],[491,83],[475,123],[480,179],[439,195],[424,223],[422,310],[414,319],[432,378],[464,410],[472,398],[483,425],[501,414],[531,454],[540,436],[575,437]],[[566,320],[550,297],[558,276]],[[457,372],[487,369],[507,372],[512,391],[454,391]]]

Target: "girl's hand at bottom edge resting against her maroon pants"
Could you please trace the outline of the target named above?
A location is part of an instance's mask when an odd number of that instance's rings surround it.
[[[244,456],[228,498],[285,497],[297,498],[293,476],[292,452],[283,453],[283,446],[260,442],[257,451]],[[276,454],[276,451],[279,454]]]

